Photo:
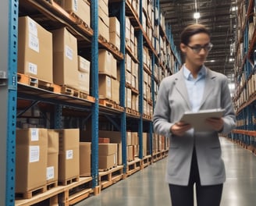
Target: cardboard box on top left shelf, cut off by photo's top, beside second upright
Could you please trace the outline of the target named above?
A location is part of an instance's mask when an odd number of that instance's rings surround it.
[[[84,23],[91,26],[91,7],[86,0],[55,0],[63,9],[69,13],[74,13]]]

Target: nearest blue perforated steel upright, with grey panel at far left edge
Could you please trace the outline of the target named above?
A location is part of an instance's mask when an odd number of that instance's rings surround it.
[[[0,7],[0,205],[5,206],[15,205],[18,3],[3,0]]]

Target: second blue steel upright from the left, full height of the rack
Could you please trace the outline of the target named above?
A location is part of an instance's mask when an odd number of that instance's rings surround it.
[[[91,106],[91,176],[92,187],[98,186],[98,0],[91,1],[91,83],[95,103]]]

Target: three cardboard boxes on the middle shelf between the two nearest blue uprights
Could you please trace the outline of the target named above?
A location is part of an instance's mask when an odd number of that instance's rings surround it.
[[[77,55],[76,37],[66,27],[48,31],[20,17],[18,72],[89,94],[90,62]]]

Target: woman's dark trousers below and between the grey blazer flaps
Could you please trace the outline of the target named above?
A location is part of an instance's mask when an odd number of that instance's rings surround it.
[[[191,162],[190,180],[188,186],[169,184],[172,206],[193,206],[194,184],[196,186],[197,206],[220,205],[223,184],[201,186],[195,150],[193,152]]]

